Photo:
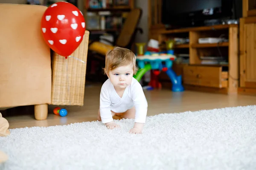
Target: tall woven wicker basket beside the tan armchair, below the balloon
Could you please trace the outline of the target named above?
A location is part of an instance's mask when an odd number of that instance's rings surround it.
[[[52,105],[84,105],[84,86],[87,65],[89,31],[71,56],[53,54],[52,59]],[[80,60],[84,61],[81,62]]]

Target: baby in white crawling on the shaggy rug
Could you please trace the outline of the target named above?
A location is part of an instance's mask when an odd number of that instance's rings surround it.
[[[120,47],[108,51],[104,71],[108,79],[100,92],[98,120],[113,129],[120,127],[113,122],[113,116],[122,114],[125,119],[135,119],[129,132],[141,134],[148,102],[140,83],[133,77],[137,72],[134,53]]]

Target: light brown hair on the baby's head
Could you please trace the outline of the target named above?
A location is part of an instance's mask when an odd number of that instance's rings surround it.
[[[136,74],[138,69],[135,54],[127,48],[115,47],[106,53],[104,73],[109,74],[115,68],[130,64]]]

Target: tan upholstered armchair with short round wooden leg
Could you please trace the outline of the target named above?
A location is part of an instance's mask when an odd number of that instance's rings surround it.
[[[35,105],[37,120],[47,119],[52,97],[58,98],[58,89],[52,86],[52,82],[58,83],[52,79],[52,65],[55,68],[61,65],[61,62],[51,63],[50,48],[41,35],[41,17],[46,9],[46,6],[0,4],[0,110]],[[87,48],[82,50],[87,57]],[[85,79],[85,71],[82,74]],[[84,88],[84,84],[80,86]]]

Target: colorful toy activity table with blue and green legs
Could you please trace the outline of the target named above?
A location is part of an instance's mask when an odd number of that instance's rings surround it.
[[[143,75],[152,70],[155,75],[160,74],[160,71],[166,72],[172,81],[172,91],[184,91],[181,84],[181,76],[177,76],[172,70],[172,62],[176,59],[172,54],[151,54],[145,53],[144,55],[136,56],[137,65],[140,68],[134,78],[140,81]]]

